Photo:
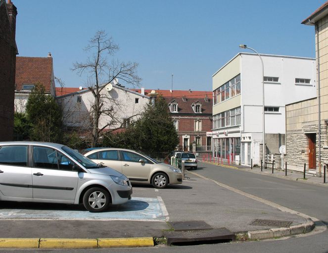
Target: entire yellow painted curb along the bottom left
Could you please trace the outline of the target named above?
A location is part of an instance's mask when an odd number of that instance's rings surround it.
[[[153,247],[152,237],[139,238],[0,238],[0,248],[10,249],[95,249],[119,247]]]

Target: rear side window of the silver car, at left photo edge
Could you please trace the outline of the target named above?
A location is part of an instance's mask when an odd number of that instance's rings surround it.
[[[2,146],[0,164],[27,166],[27,146]]]

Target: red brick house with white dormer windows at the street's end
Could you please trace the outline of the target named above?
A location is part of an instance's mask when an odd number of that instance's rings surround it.
[[[179,149],[193,152],[212,150],[212,91],[134,89],[145,95],[161,94],[167,101],[168,110],[179,136]]]

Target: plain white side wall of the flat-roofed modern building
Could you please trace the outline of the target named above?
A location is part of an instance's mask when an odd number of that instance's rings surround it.
[[[314,59],[261,55],[264,76],[279,77],[279,84],[265,82],[265,106],[280,107],[265,114],[266,133],[285,133],[285,105],[316,97]],[[262,131],[262,68],[258,55],[241,54],[241,96],[244,131]],[[311,79],[311,85],[295,85],[295,78]],[[260,107],[259,107],[260,106]]]

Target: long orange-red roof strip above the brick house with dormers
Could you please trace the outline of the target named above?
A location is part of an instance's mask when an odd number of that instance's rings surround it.
[[[141,89],[132,89],[141,93]],[[204,98],[207,95],[208,98],[212,99],[212,91],[194,91],[194,90],[171,90],[169,89],[154,89],[156,93],[161,94],[163,97],[189,97],[189,98]],[[149,95],[151,89],[145,89],[144,94]]]

